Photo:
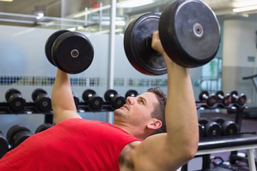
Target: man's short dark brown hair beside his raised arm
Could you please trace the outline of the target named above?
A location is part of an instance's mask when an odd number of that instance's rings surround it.
[[[158,104],[155,105],[154,111],[151,112],[151,117],[162,121],[162,127],[157,129],[156,131],[154,131],[154,133],[152,133],[151,135],[154,135],[156,133],[166,133],[167,130],[166,130],[166,122],[165,122],[165,106],[166,106],[167,96],[163,92],[163,90],[161,90],[158,87],[149,88],[147,90],[147,92],[152,92],[152,93],[156,94],[156,96],[158,98]]]

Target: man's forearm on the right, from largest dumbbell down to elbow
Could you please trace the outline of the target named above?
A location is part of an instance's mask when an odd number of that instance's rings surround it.
[[[167,136],[173,149],[196,153],[199,141],[197,109],[188,68],[168,62],[168,97],[166,106]]]

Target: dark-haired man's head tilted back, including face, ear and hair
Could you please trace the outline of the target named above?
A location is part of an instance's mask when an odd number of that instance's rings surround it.
[[[144,139],[165,129],[164,108],[166,95],[160,88],[150,88],[136,97],[127,97],[127,103],[114,111],[114,124]]]

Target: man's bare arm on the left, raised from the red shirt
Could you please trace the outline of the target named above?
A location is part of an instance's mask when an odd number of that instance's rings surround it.
[[[73,99],[69,75],[58,69],[51,93],[53,122],[56,124],[70,118],[81,118]]]

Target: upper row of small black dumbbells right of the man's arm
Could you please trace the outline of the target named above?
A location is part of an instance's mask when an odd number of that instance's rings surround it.
[[[232,91],[224,94],[223,91],[218,91],[215,94],[209,94],[208,91],[202,91],[199,94],[199,101],[197,101],[197,108],[230,108],[230,107],[245,107],[247,97],[245,94],[238,94],[237,91]]]

